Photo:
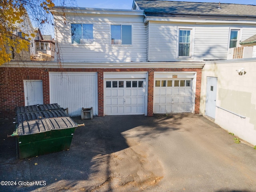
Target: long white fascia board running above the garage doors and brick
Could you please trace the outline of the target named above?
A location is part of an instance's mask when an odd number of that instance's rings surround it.
[[[62,62],[62,68],[203,68],[205,62]],[[12,61],[0,67],[60,68],[58,62]]]

